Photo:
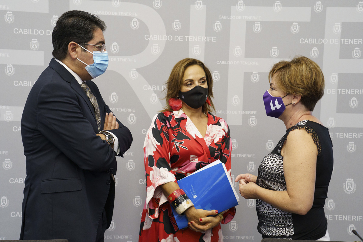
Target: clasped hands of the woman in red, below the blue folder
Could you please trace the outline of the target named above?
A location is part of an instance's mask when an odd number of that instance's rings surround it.
[[[216,216],[218,213],[217,210],[195,209],[194,206],[184,212],[189,221],[189,228],[201,233],[214,228],[221,222],[221,218]]]

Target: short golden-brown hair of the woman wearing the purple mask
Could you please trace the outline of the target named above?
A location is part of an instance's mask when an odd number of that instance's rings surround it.
[[[291,61],[279,61],[269,73],[269,82],[285,93],[301,95],[301,103],[310,111],[324,95],[324,75],[319,65],[305,56],[295,56]]]

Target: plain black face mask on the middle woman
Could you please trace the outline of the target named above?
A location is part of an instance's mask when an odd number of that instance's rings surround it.
[[[208,98],[208,88],[196,86],[189,91],[179,91],[179,98],[189,107],[200,108]]]

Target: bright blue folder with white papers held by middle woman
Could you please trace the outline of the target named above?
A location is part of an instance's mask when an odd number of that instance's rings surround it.
[[[219,160],[180,179],[178,185],[192,200],[196,209],[215,209],[222,212],[238,205],[239,198],[232,186],[231,177]],[[179,229],[188,226],[185,215],[179,215],[174,208],[172,212]]]

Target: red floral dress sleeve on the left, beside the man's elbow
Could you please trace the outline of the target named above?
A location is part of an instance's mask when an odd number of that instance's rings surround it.
[[[146,209],[151,219],[159,217],[159,206],[167,197],[159,187],[167,182],[176,182],[175,172],[170,166],[169,133],[170,122],[164,113],[156,114],[144,142],[144,165],[146,172]]]

